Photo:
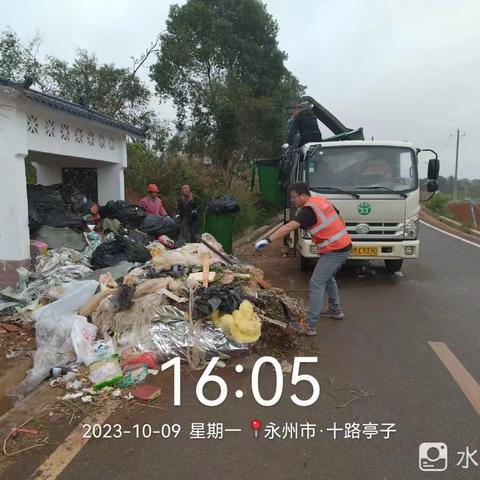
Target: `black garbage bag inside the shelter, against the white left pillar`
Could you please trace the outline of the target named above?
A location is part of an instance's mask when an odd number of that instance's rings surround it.
[[[27,185],[30,233],[35,233],[42,225],[69,227],[79,232],[88,230],[87,222],[68,208],[60,187]]]

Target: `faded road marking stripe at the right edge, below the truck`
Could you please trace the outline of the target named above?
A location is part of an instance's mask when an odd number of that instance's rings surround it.
[[[445,365],[472,407],[480,415],[480,385],[445,343],[428,342],[428,344]]]

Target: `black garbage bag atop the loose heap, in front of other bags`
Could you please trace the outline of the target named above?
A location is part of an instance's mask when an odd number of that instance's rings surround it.
[[[128,237],[117,237],[100,244],[92,254],[91,263],[96,268],[114,267],[123,261],[145,263],[152,259],[144,245]]]

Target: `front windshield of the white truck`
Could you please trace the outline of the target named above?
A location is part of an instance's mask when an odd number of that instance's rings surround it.
[[[313,147],[307,153],[305,168],[312,189],[337,187],[385,193],[388,189],[405,192],[417,187],[415,156],[404,147]]]

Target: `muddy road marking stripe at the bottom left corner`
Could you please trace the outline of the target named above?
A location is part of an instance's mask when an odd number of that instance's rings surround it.
[[[83,425],[103,425],[111,413],[112,411],[107,408],[98,415],[83,419],[64,442],[32,473],[30,478],[32,480],[55,480],[90,439],[84,438],[86,430]]]

